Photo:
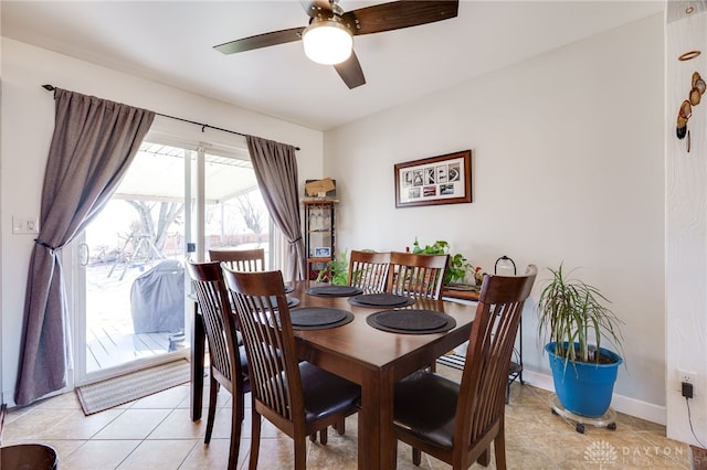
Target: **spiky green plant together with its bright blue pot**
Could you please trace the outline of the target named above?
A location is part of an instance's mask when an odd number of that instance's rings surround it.
[[[604,306],[609,300],[593,286],[550,269],[552,278],[538,300],[538,330],[560,404],[571,413],[599,417],[609,409],[622,357],[602,344],[621,350],[619,319]]]

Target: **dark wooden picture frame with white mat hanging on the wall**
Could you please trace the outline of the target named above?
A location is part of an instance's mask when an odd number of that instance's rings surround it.
[[[395,163],[395,207],[472,202],[472,151]]]

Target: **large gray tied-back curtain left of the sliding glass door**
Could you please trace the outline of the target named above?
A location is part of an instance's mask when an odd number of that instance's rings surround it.
[[[146,109],[59,88],[54,100],[40,234],[30,259],[24,302],[18,405],[66,385],[66,302],[59,250],[110,199],[155,118]]]

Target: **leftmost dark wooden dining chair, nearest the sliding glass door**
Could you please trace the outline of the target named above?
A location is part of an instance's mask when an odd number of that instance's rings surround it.
[[[203,318],[207,343],[209,344],[209,414],[204,444],[211,441],[213,419],[217,413],[219,387],[223,386],[233,396],[231,407],[231,447],[229,469],[235,469],[239,460],[241,427],[245,416],[244,394],[250,389],[245,348],[239,346],[236,329],[226,324],[232,317],[229,291],[223,280],[220,263],[187,263],[191,276],[199,310]],[[236,353],[238,351],[238,353]]]

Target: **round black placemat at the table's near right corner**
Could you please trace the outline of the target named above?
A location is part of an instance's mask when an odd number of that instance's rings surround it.
[[[383,310],[366,318],[371,327],[393,333],[441,333],[456,327],[456,321],[446,313],[433,310]]]

